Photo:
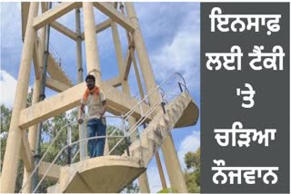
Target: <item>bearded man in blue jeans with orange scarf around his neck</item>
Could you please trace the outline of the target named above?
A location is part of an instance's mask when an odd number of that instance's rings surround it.
[[[82,115],[85,112],[85,105],[88,107],[88,121],[87,121],[87,136],[105,136],[106,134],[106,123],[105,123],[105,109],[106,100],[105,94],[100,90],[99,87],[95,86],[95,76],[87,75],[85,78],[87,89],[81,100],[80,115],[78,123],[82,124]],[[97,156],[103,156],[105,147],[105,138],[94,139],[88,141],[88,150],[90,158]]]

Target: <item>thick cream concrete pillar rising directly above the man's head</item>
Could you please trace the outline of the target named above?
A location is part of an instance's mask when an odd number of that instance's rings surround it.
[[[95,36],[95,17],[92,2],[83,2],[85,30],[85,58],[87,73],[95,75],[97,85],[101,85],[100,61]]]

